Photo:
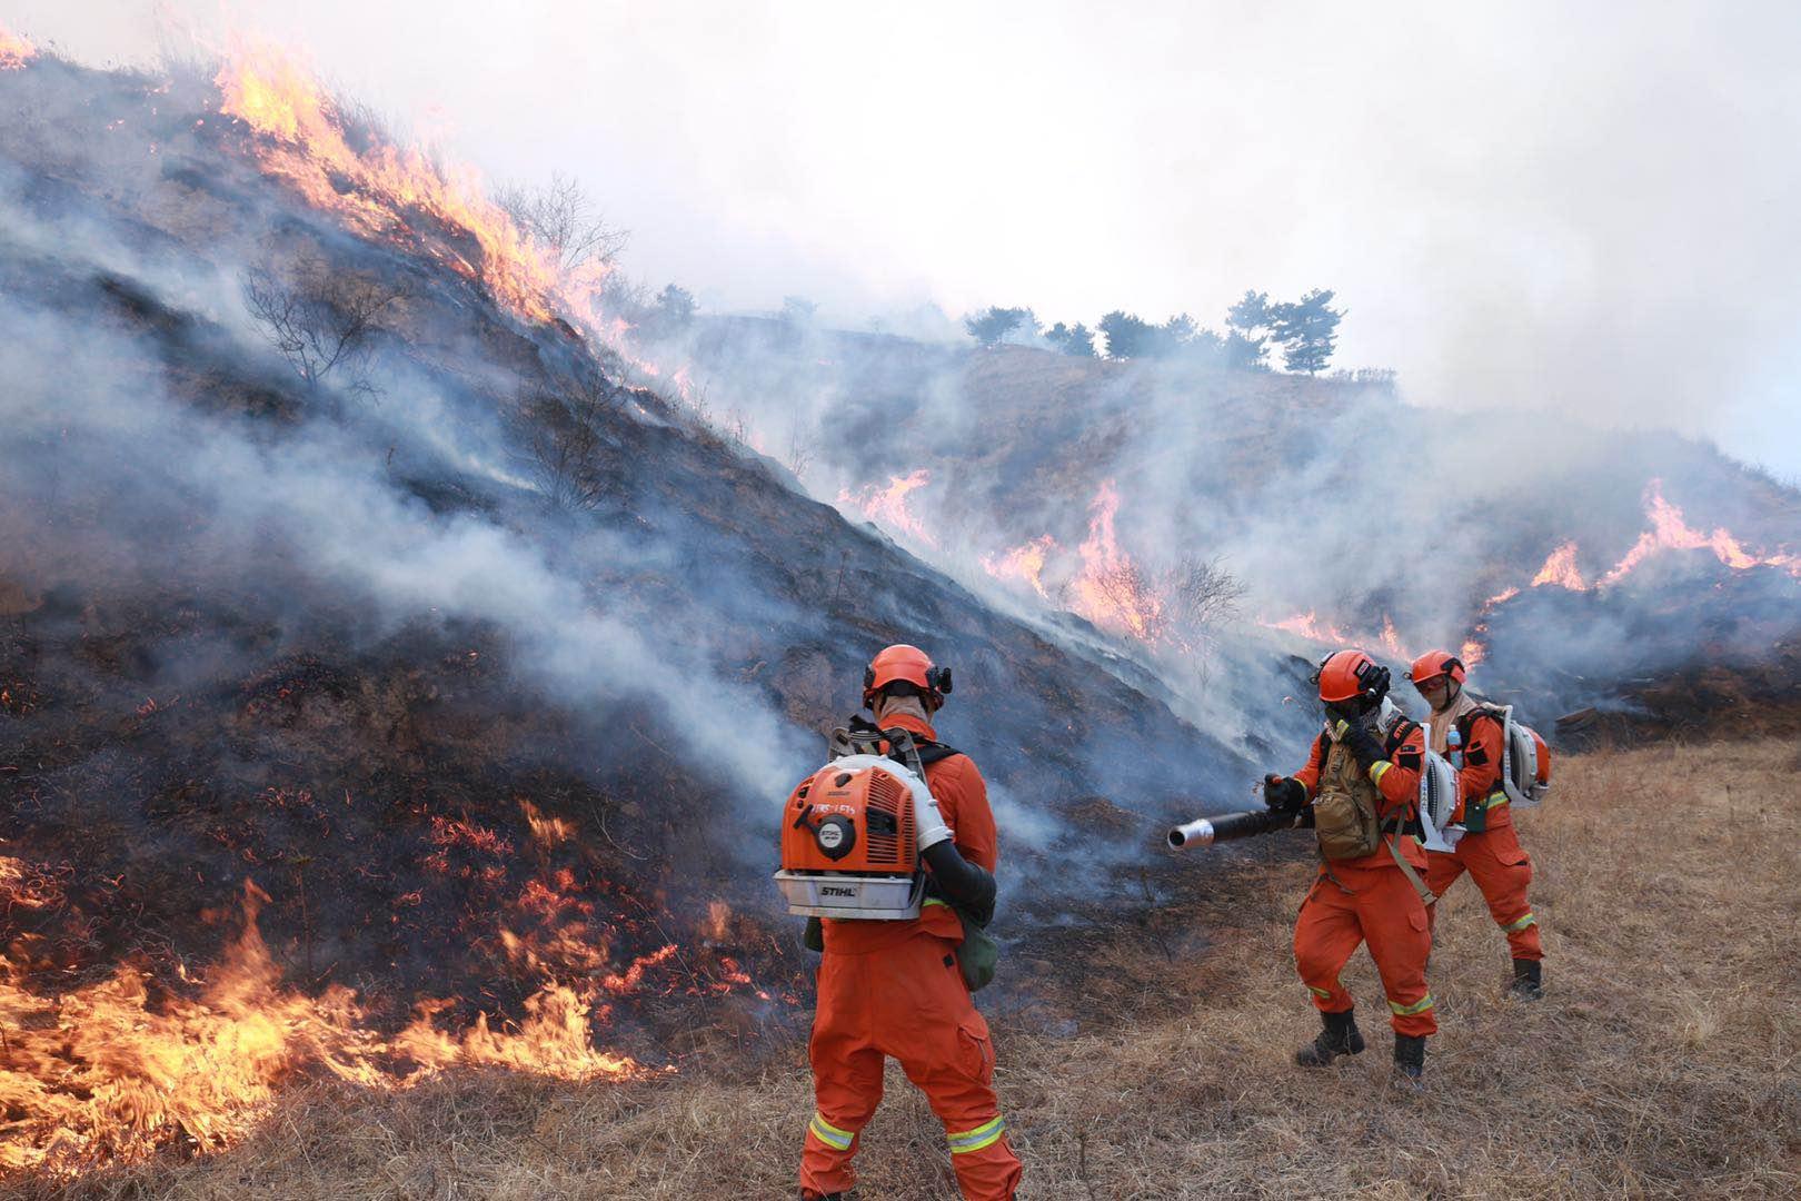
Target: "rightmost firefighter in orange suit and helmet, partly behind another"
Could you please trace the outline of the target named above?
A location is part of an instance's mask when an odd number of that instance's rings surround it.
[[[1443,897],[1457,877],[1470,873],[1513,951],[1513,983],[1507,992],[1538,999],[1543,996],[1545,951],[1538,940],[1538,918],[1525,900],[1533,861],[1513,830],[1513,812],[1500,787],[1504,729],[1500,717],[1462,686],[1466,675],[1462,661],[1448,650],[1428,650],[1414,659],[1408,672],[1414,688],[1432,706],[1432,717],[1426,718],[1432,749],[1459,769],[1457,796],[1468,830],[1457,839],[1455,850],[1426,855],[1426,886],[1435,897]],[[1459,756],[1462,762],[1457,762]]]

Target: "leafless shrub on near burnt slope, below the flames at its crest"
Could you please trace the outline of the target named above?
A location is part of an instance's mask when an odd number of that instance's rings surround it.
[[[382,315],[405,297],[396,283],[333,272],[324,263],[303,263],[288,277],[252,268],[243,277],[250,319],[308,391],[328,376],[348,376],[348,389],[375,393],[364,376]]]

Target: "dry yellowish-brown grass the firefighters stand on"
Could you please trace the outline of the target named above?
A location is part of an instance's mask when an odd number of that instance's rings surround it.
[[[1291,1064],[1317,1028],[1288,953],[1311,868],[1221,857],[1226,888],[1162,908],[1158,938],[1061,944],[1088,958],[1054,963],[1045,1001],[994,1021],[1021,1196],[1801,1194],[1801,754],[1662,745],[1560,767],[1520,821],[1549,994],[1502,999],[1506,944],[1461,882],[1437,926],[1426,1095],[1389,1084],[1362,953],[1347,980],[1369,1052]],[[1034,1032],[1046,1014],[1075,1032]],[[809,1113],[798,1044],[755,1079],[740,1062],[634,1086],[315,1088],[218,1158],[16,1192],[782,1197]],[[955,1196],[942,1131],[899,1075],[864,1140],[864,1201]]]

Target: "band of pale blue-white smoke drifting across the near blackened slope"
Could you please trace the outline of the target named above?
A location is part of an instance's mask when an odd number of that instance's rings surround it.
[[[9,209],[13,229],[43,232]],[[58,227],[65,266],[101,270],[79,250],[92,230]],[[126,266],[117,245],[106,270]],[[234,293],[214,293],[222,308]],[[708,664],[701,628],[665,628],[656,643],[609,616],[584,578],[656,567],[650,556],[587,531],[560,560],[484,515],[434,515],[396,492],[366,432],[312,421],[270,443],[252,429],[220,423],[162,394],[146,380],[151,348],[85,315],[63,317],[7,303],[0,346],[0,463],[7,465],[5,546],[58,542],[56,556],[106,564],[126,578],[178,578],[207,564],[214,587],[268,587],[274,596],[330,596],[360,609],[369,636],[432,616],[492,623],[513,645],[519,666],[575,711],[620,697],[648,699],[668,726],[692,736],[697,760],[710,720],[731,711],[740,733],[731,778],[742,798],[780,794],[809,758],[764,699],[720,679]],[[247,319],[243,324],[249,324]],[[245,344],[241,353],[256,355]],[[389,376],[378,425],[405,459],[445,452],[443,398],[420,382]],[[461,452],[470,456],[470,452]],[[456,459],[452,459],[454,463]],[[465,457],[461,466],[477,463]],[[499,468],[497,484],[513,477]],[[72,517],[104,499],[104,519],[68,533]],[[79,526],[76,526],[79,529]],[[58,533],[63,531],[63,533]],[[67,538],[86,542],[72,546]],[[13,555],[9,555],[13,558]],[[16,573],[16,574],[14,574]],[[31,562],[9,574],[54,587]]]

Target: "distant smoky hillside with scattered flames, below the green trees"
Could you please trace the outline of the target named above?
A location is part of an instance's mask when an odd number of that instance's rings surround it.
[[[881,472],[827,479],[821,461],[818,486],[857,499],[904,477],[947,560],[1007,574],[1030,549],[1052,603],[1072,603],[1106,511],[1115,562],[1149,592],[1181,556],[1223,556],[1244,616],[1403,663],[1489,650],[1479,681],[1529,695],[1540,720],[1697,657],[1769,659],[1797,625],[1801,493],[1711,447],[1588,429],[1531,398],[1450,414],[1390,385],[756,319],[706,324],[684,349],[715,393],[749,380],[805,400],[774,420],[814,429],[778,427],[774,445],[884,438]]]

